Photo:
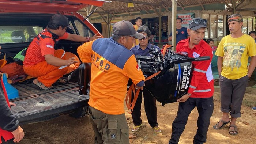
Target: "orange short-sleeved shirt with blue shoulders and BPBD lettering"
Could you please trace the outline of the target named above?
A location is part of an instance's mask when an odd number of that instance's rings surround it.
[[[145,80],[135,56],[112,38],[84,43],[78,54],[82,62],[92,63],[88,104],[106,114],[123,114],[129,78],[136,86]]]

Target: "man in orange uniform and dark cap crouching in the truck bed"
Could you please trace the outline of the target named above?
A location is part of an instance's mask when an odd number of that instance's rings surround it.
[[[65,59],[64,50],[54,50],[54,44],[60,39],[76,42],[88,42],[100,36],[82,37],[66,32],[71,28],[68,18],[61,14],[52,16],[46,29],[33,39],[23,62],[23,68],[27,75],[37,77],[33,83],[43,90],[52,88],[52,84],[60,79],[68,71],[68,66],[78,61],[75,58]]]

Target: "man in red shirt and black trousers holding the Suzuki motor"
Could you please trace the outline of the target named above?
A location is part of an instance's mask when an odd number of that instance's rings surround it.
[[[206,142],[206,135],[210,125],[210,117],[213,112],[213,76],[211,72],[212,50],[211,47],[202,39],[204,38],[207,20],[202,18],[193,18],[189,23],[188,39],[181,40],[176,51],[187,55],[188,57],[210,56],[207,61],[192,62],[192,77],[188,93],[177,99],[179,108],[177,116],[172,123],[172,137],[169,144],[177,144],[180,136],[185,129],[188,116],[191,111],[197,107],[197,132],[194,136],[194,144],[203,144]]]

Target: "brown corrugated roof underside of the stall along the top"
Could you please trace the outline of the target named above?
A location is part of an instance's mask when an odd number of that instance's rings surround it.
[[[172,0],[110,0],[111,3],[105,3],[102,7],[98,8],[91,18],[99,18],[99,14],[113,14],[114,16],[124,16],[124,15],[138,15],[138,13],[147,14],[155,13],[159,11],[159,6],[162,6],[162,11],[168,7],[169,11],[172,11]],[[134,7],[128,8],[128,2],[131,1]],[[219,14],[230,15],[230,11],[224,10],[223,7],[219,7],[218,4],[232,4],[232,1],[236,5],[240,4],[238,9],[247,8],[247,11],[240,11],[241,15],[254,16],[256,11],[256,0],[177,0],[177,11],[182,10],[213,10],[214,5],[216,10],[222,8],[223,11]],[[232,6],[231,6],[232,7]],[[80,14],[86,16],[87,13],[84,9],[78,11]]]

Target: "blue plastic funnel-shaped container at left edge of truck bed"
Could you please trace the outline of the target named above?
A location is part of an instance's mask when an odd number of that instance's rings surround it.
[[[7,82],[7,77],[6,77],[5,73],[3,73],[3,82],[4,82],[4,87],[5,87],[7,95],[8,95],[8,99],[18,98],[19,97],[18,90]]]

